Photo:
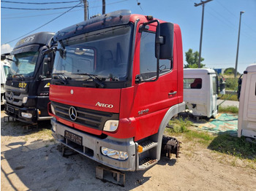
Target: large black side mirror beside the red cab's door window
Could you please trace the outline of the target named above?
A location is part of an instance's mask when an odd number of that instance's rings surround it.
[[[159,59],[173,58],[173,23],[161,23],[159,26],[160,36],[159,41],[156,39],[156,44],[159,43]],[[157,52],[156,52],[157,57]]]

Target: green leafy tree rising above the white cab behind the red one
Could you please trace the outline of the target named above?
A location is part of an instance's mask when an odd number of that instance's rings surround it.
[[[198,61],[199,61],[199,52],[195,51],[193,52],[193,50],[191,48],[189,48],[189,50],[187,52],[185,52],[186,54],[186,61],[187,64],[184,65],[184,68],[198,68]],[[204,61],[204,58],[201,57],[201,62]],[[203,68],[203,66],[206,66],[206,64],[200,63],[200,68]]]

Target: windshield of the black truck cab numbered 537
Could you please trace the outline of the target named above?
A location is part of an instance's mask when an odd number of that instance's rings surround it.
[[[38,52],[23,52],[14,55],[10,67],[10,74],[12,76],[23,75],[23,77],[33,77],[38,54]]]

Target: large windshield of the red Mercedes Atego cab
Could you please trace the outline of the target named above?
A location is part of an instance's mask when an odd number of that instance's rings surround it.
[[[131,26],[116,26],[59,42],[53,74],[72,80],[125,81]]]

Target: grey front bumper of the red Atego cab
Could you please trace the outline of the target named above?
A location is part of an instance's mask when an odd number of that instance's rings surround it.
[[[108,136],[105,139],[100,139],[98,136],[85,133],[81,130],[76,130],[57,122],[55,118],[51,120],[53,125],[53,137],[81,155],[91,158],[92,160],[107,165],[110,168],[116,168],[121,171],[135,171],[136,168],[136,144],[132,138],[130,139],[115,139]],[[82,145],[75,144],[72,141],[65,139],[65,131],[74,133],[82,137]],[[116,149],[118,151],[127,152],[129,157],[127,160],[116,160],[105,155],[102,155],[101,147]]]

